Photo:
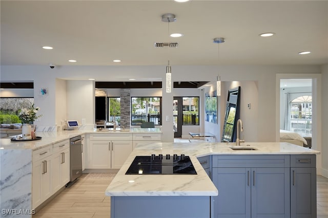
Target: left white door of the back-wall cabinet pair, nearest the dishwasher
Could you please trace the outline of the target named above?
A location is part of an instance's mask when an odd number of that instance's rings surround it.
[[[90,141],[90,169],[111,168],[111,141]]]

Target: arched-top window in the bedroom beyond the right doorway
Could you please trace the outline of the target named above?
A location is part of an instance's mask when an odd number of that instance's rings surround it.
[[[291,131],[302,137],[312,136],[312,96],[301,96],[290,102]]]

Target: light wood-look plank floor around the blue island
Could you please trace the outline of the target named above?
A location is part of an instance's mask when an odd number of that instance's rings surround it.
[[[109,218],[105,189],[114,177],[115,173],[84,174],[32,218]],[[328,218],[328,179],[322,176],[317,176],[317,218]]]

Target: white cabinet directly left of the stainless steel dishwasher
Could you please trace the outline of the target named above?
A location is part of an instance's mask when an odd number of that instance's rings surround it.
[[[70,181],[70,145],[68,140],[53,145],[51,177],[53,193]]]

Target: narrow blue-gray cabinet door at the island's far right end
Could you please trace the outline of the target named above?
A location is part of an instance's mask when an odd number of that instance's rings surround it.
[[[316,168],[291,168],[291,218],[317,217]]]

